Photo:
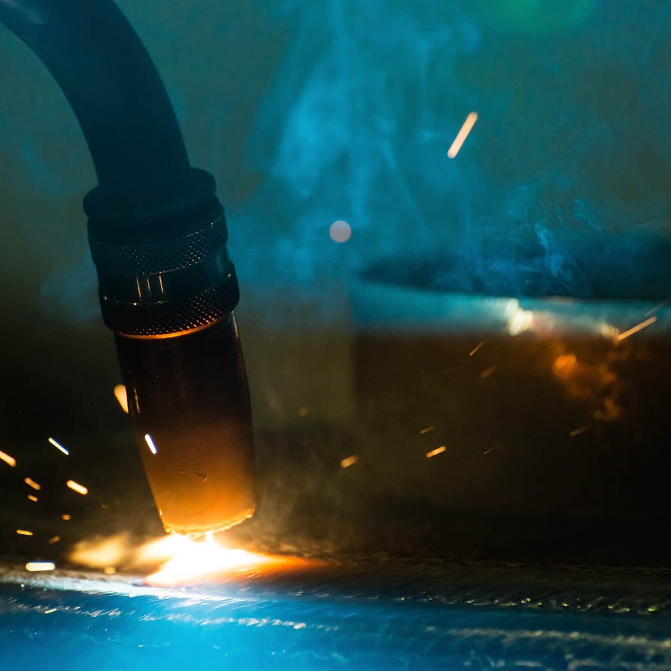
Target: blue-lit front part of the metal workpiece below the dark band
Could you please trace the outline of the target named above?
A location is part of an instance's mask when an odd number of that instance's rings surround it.
[[[229,586],[213,596],[119,585],[125,593],[81,592],[74,583],[66,590],[5,584],[0,668],[580,668],[589,660],[598,660],[596,668],[671,665],[665,618],[446,607],[338,590],[320,597]]]

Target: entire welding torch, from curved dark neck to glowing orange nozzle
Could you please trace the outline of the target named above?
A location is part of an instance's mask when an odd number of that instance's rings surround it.
[[[160,76],[112,0],[0,0],[0,23],[54,76],[91,152],[101,311],[164,528],[231,527],[254,513],[254,448],[215,180],[191,166]]]

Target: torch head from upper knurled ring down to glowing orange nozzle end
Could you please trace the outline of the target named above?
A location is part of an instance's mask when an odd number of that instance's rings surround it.
[[[178,214],[91,218],[89,243],[158,513],[197,535],[252,517],[254,448],[223,208],[212,195]]]

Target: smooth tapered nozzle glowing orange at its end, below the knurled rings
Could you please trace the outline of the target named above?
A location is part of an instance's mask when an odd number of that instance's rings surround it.
[[[201,535],[252,517],[252,421],[233,315],[177,338],[119,336],[117,348],[164,529]]]

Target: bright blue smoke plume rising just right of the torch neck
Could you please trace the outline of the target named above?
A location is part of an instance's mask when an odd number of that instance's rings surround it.
[[[444,5],[285,5],[297,35],[250,142],[267,181],[235,227],[244,275],[342,277],[467,225],[482,179],[472,156],[446,158],[469,110],[451,73],[480,33]],[[328,236],[338,219],[352,225],[346,249]]]

